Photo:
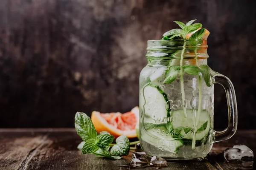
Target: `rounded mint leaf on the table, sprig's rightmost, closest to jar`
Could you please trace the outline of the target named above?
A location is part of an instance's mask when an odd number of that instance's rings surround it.
[[[111,148],[110,153],[113,156],[128,155],[130,150],[130,141],[127,136],[119,136],[116,139],[116,144]]]

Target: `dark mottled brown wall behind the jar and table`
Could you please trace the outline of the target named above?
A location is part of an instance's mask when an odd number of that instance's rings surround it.
[[[139,102],[146,41],[198,19],[209,66],[233,82],[239,128],[256,128],[255,0],[1,0],[0,127],[73,127],[76,111]],[[227,127],[215,88],[215,127]]]

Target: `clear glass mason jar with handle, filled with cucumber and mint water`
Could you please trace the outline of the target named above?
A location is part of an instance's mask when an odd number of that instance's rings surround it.
[[[140,73],[140,144],[165,159],[205,157],[212,143],[237,129],[235,91],[227,77],[207,65],[207,41],[149,40]],[[213,130],[214,84],[227,95],[229,125]]]

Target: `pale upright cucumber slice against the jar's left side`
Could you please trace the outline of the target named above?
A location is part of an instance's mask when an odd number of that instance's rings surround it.
[[[147,85],[143,88],[144,113],[143,123],[163,123],[163,120],[169,116],[166,110],[167,95],[159,88]]]

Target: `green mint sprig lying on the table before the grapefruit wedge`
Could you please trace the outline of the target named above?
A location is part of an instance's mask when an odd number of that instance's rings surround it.
[[[120,136],[116,139],[116,144],[113,146],[112,155],[108,151],[110,144],[113,142],[114,136],[110,135],[108,132],[102,132],[97,135],[97,131],[91,121],[85,113],[77,112],[75,116],[75,128],[77,134],[83,139],[83,147],[79,144],[78,148],[82,149],[82,153],[93,153],[96,156],[103,156],[109,159],[121,159],[120,156],[128,155],[129,139],[127,136]],[[111,150],[112,150],[111,149]]]

